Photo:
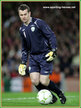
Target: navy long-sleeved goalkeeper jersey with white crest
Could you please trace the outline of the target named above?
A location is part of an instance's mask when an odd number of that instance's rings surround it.
[[[19,31],[22,40],[22,61],[25,63],[28,52],[40,54],[57,47],[54,32],[41,19],[31,18],[31,22],[28,25],[23,24]]]

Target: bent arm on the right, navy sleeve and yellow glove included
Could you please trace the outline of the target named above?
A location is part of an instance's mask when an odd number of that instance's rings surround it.
[[[44,36],[48,39],[51,51],[46,54],[46,60],[48,62],[53,61],[54,58],[57,55],[57,42],[56,42],[56,36],[54,32],[50,29],[50,27],[42,20],[38,20],[38,27],[43,32]]]

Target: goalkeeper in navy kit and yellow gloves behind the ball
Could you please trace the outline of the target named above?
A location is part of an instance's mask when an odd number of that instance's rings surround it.
[[[22,40],[22,62],[19,65],[20,75],[26,75],[26,63],[29,56],[29,75],[38,90],[49,89],[57,94],[62,104],[66,97],[49,79],[53,70],[53,60],[57,55],[56,36],[50,27],[41,19],[31,17],[29,6],[21,4],[18,8],[22,21],[20,36]],[[51,103],[57,101],[53,95]]]

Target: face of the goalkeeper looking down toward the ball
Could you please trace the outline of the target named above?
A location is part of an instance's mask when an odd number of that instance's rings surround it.
[[[19,17],[23,23],[26,23],[30,20],[30,12],[27,9],[19,10]]]

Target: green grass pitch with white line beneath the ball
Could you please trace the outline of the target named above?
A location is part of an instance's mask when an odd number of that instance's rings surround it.
[[[36,92],[32,93],[2,93],[2,106],[79,106],[79,92],[65,93],[67,102],[61,104],[59,99],[55,104],[41,105]]]

